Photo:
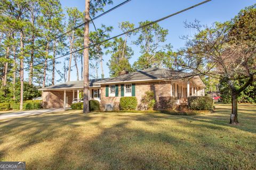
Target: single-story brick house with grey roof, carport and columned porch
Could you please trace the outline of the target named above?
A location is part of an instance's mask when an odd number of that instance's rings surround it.
[[[177,97],[177,104],[185,103],[188,96],[204,96],[205,84],[200,77],[184,79],[191,74],[150,68],[136,72],[123,72],[116,78],[94,79],[90,81],[90,100],[99,100],[101,110],[106,105],[119,105],[121,97],[135,96],[140,104],[148,90],[154,91],[156,102],[159,97]],[[83,91],[83,81],[70,81],[42,89],[44,108],[70,107],[74,98]]]

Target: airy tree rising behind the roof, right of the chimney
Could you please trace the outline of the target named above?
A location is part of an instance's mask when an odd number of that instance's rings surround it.
[[[140,26],[150,23],[150,21],[139,22]],[[140,46],[141,56],[134,62],[133,68],[138,70],[148,69],[150,67],[161,67],[163,62],[162,55],[159,55],[170,45],[162,45],[168,34],[167,29],[160,27],[158,23],[142,28],[140,35],[134,44]]]

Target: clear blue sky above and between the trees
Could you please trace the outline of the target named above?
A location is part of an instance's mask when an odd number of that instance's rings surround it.
[[[113,0],[113,5],[108,5],[105,10],[117,5],[122,1]],[[60,0],[63,9],[65,7],[77,7],[79,10],[83,11],[85,6],[84,0]],[[116,10],[102,16],[101,18],[94,21],[96,27],[100,27],[101,24],[107,26],[113,26],[114,30],[110,33],[110,36],[117,35],[121,33],[118,29],[118,23],[122,21],[129,21],[138,26],[140,21],[153,21],[163,16],[169,15],[171,13],[187,8],[191,5],[197,4],[201,1],[198,0],[132,0],[131,2],[117,8]],[[180,39],[182,35],[189,35],[193,33],[193,30],[184,28],[184,21],[194,21],[195,19],[201,21],[202,24],[211,24],[215,21],[223,22],[233,18],[242,8],[254,4],[255,1],[252,0],[212,0],[209,3],[203,4],[189,11],[183,12],[181,14],[175,15],[169,19],[159,22],[161,27],[168,29],[169,34],[166,37],[166,44],[171,43],[173,50],[177,50],[182,47],[184,41]],[[90,25],[91,30],[94,28]],[[137,37],[131,37],[131,40],[135,40]],[[132,56],[130,63],[132,64],[140,56],[140,49],[135,45],[130,45],[134,50],[134,55]],[[104,72],[105,77],[109,76],[109,70],[106,63],[109,61],[110,56],[103,56]],[[60,60],[63,62],[63,60]],[[63,68],[62,64],[58,65],[58,69]],[[93,72],[91,70],[91,72]],[[100,74],[99,74],[100,75]],[[57,75],[58,76],[58,75]],[[80,77],[80,76],[79,76]],[[56,78],[58,79],[58,77]],[[71,73],[71,81],[76,80],[76,70],[73,69]]]

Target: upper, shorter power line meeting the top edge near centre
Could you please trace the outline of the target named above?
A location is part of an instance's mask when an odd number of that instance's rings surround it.
[[[98,15],[98,16],[95,16],[93,19],[91,18],[91,20],[86,21],[86,22],[84,22],[84,23],[78,25],[77,27],[74,27],[73,29],[71,29],[71,30],[69,30],[69,31],[67,31],[67,32],[65,32],[65,33],[62,33],[62,34],[59,35],[58,37],[55,37],[55,38],[53,38],[53,39],[51,39],[51,40],[49,40],[49,41],[46,41],[45,44],[40,45],[40,46],[38,46],[38,47],[36,47],[36,48],[42,47],[42,46],[46,45],[47,43],[51,43],[53,40],[56,40],[56,39],[59,39],[59,38],[65,36],[67,33],[69,33],[69,32],[71,32],[71,31],[73,31],[73,30],[76,30],[76,29],[82,27],[82,26],[85,25],[86,23],[89,23],[89,22],[91,22],[91,21],[93,21],[93,20],[96,20],[96,19],[100,18],[101,16],[103,16],[103,15],[105,15],[105,14],[107,14],[107,13],[113,11],[113,10],[115,10],[116,8],[122,6],[122,5],[124,5],[124,4],[126,4],[127,2],[130,2],[130,1],[131,1],[131,0],[126,0],[126,1],[122,2],[121,4],[118,4],[118,5],[114,6],[113,8],[110,8],[110,10],[108,10],[108,11],[106,11],[106,12],[103,12],[102,14],[100,14],[100,15]],[[34,48],[34,50],[35,50],[36,48]],[[33,50],[33,49],[30,49],[30,50],[28,50],[27,52],[24,52],[24,53],[18,55],[17,57],[20,57],[20,56],[22,56],[22,55],[24,55],[24,54],[27,54],[27,53],[31,52],[31,50]]]

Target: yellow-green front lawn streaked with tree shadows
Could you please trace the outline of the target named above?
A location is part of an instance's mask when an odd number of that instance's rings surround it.
[[[66,111],[0,120],[0,161],[27,169],[256,169],[256,105],[209,115]]]

